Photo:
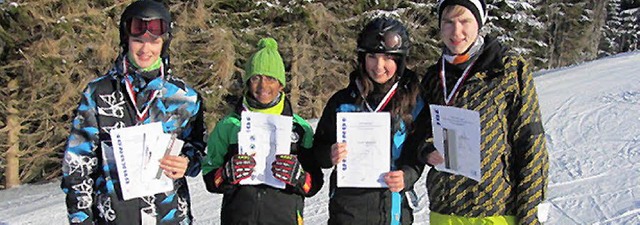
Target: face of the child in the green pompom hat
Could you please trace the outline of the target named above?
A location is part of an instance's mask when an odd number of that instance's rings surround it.
[[[262,104],[269,104],[278,97],[284,87],[276,78],[255,75],[249,78],[249,93]]]

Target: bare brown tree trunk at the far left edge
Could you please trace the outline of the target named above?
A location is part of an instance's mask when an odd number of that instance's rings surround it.
[[[15,108],[14,102],[9,102],[9,109],[7,115],[7,133],[8,133],[8,145],[6,161],[7,167],[4,170],[5,188],[12,188],[19,186],[20,182],[20,116],[18,115],[18,109]]]

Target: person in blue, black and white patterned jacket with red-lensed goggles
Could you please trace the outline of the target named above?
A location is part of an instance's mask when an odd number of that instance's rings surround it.
[[[120,19],[123,53],[84,89],[62,162],[71,224],[191,224],[185,176],[200,172],[207,135],[200,95],[169,69],[171,24],[161,3],[127,6]],[[178,156],[160,161],[174,190],[124,201],[109,132],[154,122],[184,141]]]

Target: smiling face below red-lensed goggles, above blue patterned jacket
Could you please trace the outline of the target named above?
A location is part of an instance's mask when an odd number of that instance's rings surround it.
[[[158,38],[129,37],[129,53],[134,62],[141,68],[147,68],[160,58],[164,40]]]

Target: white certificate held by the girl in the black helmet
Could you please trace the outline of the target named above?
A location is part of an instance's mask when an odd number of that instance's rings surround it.
[[[391,168],[391,119],[388,112],[337,113],[338,142],[347,157],[338,163],[338,187],[384,188]]]

